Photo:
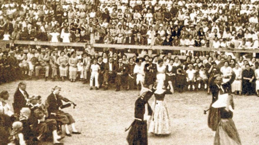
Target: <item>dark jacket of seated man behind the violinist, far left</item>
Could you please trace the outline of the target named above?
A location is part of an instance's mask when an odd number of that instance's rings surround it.
[[[26,98],[28,98],[29,97],[28,93],[26,91],[24,91],[24,93],[26,95]],[[14,113],[20,114],[21,108],[28,107],[26,103],[27,101],[24,95],[21,93],[19,89],[17,89],[16,92],[14,93],[14,103],[13,103]]]

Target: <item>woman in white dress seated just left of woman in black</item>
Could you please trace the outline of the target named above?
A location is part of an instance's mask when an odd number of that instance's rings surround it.
[[[231,90],[232,92],[235,92],[235,94],[241,94],[242,93],[242,82],[241,82],[242,69],[240,68],[239,64],[236,63],[235,67],[232,70],[235,72],[236,78],[231,84]]]

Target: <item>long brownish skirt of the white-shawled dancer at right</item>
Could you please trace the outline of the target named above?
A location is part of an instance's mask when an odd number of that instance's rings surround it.
[[[214,139],[214,145],[241,145],[238,130],[232,119],[222,119]]]

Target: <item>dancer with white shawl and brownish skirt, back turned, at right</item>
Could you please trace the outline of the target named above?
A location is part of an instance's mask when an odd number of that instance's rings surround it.
[[[232,120],[234,102],[233,96],[224,94],[212,104],[212,108],[220,110],[220,122],[215,134],[214,145],[241,145],[238,131]]]

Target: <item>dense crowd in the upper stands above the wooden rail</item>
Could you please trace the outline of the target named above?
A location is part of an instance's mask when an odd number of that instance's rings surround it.
[[[237,49],[259,46],[257,0],[1,2],[3,40]]]

